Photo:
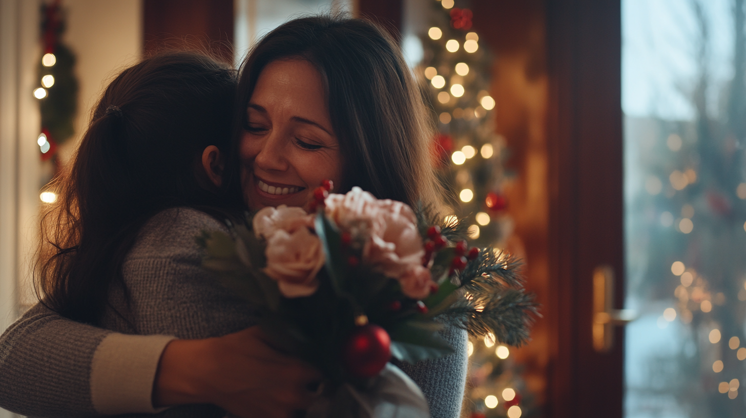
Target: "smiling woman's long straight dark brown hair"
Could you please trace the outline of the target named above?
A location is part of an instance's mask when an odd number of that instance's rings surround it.
[[[246,118],[262,70],[287,59],[312,63],[325,82],[344,163],[343,184],[336,192],[359,186],[379,199],[439,209],[442,196],[428,149],[433,127],[410,69],[386,30],[345,16],[309,16],[280,25],[242,65],[237,121]],[[239,142],[240,134],[235,137]],[[236,172],[231,184],[240,187]]]

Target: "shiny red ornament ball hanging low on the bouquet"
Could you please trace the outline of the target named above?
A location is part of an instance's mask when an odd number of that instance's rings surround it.
[[[391,337],[378,325],[355,328],[342,349],[345,369],[359,378],[377,375],[391,358]]]

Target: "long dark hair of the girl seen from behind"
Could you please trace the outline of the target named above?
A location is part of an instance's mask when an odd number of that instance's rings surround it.
[[[201,168],[207,146],[231,147],[235,92],[233,69],[192,52],[146,58],[109,84],[43,213],[35,271],[43,303],[95,323],[151,216],[181,206],[221,218],[242,210],[241,195],[213,187]]]

